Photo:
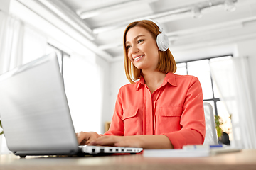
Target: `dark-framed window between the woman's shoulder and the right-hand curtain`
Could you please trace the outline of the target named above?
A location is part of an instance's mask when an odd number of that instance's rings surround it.
[[[226,59],[227,57],[230,58],[232,55],[180,62],[177,63],[176,74],[188,74],[198,77],[203,90],[203,101],[210,103],[211,106],[213,106],[214,114],[219,115],[222,118],[224,124],[221,128],[223,129],[223,132],[227,132],[230,135],[230,140],[232,140],[231,120],[223,102],[220,101],[218,88],[210,74],[210,62],[215,60],[220,61]]]

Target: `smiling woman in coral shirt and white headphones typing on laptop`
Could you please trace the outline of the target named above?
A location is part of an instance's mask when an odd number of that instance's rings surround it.
[[[124,67],[131,84],[119,89],[110,130],[104,135],[80,132],[79,143],[144,149],[203,144],[201,84],[196,77],[174,74],[176,62],[168,40],[156,39],[166,36],[160,31],[159,24],[149,20],[127,26]]]

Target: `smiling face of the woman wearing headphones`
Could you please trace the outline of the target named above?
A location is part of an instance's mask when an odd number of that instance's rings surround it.
[[[137,69],[155,71],[159,62],[156,40],[145,28],[134,26],[126,35],[127,57]]]

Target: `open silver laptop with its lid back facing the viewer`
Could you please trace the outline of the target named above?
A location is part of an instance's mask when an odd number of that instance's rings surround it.
[[[9,150],[21,157],[142,151],[78,145],[55,53],[0,75],[0,118]]]

